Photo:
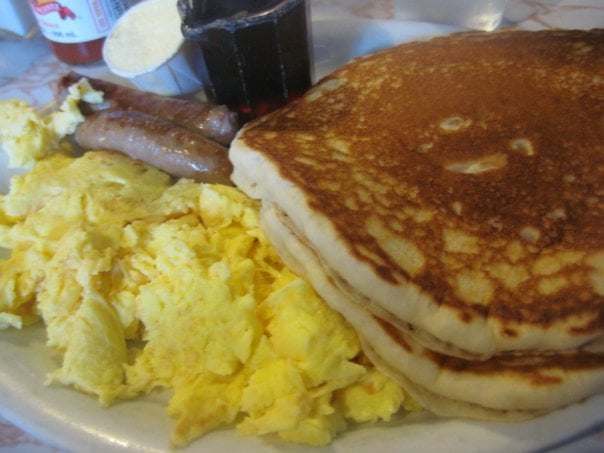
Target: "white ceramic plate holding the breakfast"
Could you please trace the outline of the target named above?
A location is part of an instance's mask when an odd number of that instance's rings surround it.
[[[455,31],[449,26],[387,21],[318,21],[315,75],[319,79],[349,59],[396,43]],[[0,153],[0,190],[10,172]],[[41,325],[0,332],[0,414],[33,435],[72,451],[167,451],[171,420],[168,394],[152,395],[101,408],[96,399],[68,388],[44,386],[59,357],[45,346]],[[471,389],[468,389],[471,391]],[[604,395],[523,423],[440,420],[414,414],[389,424],[364,426],[313,452],[518,452],[570,444],[604,426]],[[273,439],[241,438],[233,430],[213,432],[184,452],[307,451]]]

